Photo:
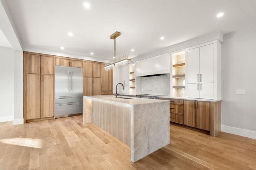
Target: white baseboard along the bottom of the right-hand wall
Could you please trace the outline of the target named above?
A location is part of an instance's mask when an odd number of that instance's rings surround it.
[[[226,133],[231,133],[234,135],[256,139],[256,131],[250,131],[250,130],[230,127],[226,125],[221,125],[221,131]]]

